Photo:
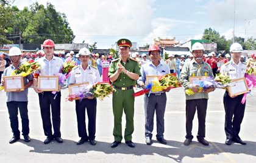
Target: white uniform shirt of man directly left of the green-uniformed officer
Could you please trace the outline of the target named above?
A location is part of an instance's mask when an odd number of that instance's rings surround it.
[[[96,82],[101,81],[101,76],[99,76],[99,71],[96,68],[87,66],[86,70],[80,65],[71,71],[69,83],[79,84],[83,82],[89,82],[89,85],[96,84]]]

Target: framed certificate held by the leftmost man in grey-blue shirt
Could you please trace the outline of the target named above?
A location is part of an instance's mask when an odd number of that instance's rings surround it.
[[[2,76],[2,79],[5,83],[4,91],[25,90],[22,75]]]

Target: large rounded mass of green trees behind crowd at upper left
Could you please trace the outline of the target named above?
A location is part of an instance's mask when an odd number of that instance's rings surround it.
[[[57,12],[51,2],[47,2],[46,7],[34,2],[23,10],[13,6],[12,12],[15,13],[11,19],[13,25],[9,25],[7,30],[15,36],[20,35],[21,31],[21,43],[42,44],[45,39],[52,39],[55,44],[62,44],[72,43],[75,38],[65,13]],[[20,38],[10,39],[18,43]]]

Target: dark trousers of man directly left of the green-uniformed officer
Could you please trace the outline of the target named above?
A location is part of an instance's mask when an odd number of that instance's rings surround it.
[[[78,135],[81,139],[84,140],[94,140],[95,133],[96,133],[96,106],[97,106],[97,99],[82,99],[79,102],[79,99],[76,100],[76,116],[77,116],[77,128],[78,128]],[[88,133],[86,131],[86,124],[85,124],[85,108],[87,110],[88,116]]]

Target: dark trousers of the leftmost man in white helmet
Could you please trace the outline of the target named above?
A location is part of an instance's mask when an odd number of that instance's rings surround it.
[[[12,128],[13,136],[20,136],[19,122],[18,122],[18,108],[21,115],[22,133],[29,135],[29,116],[27,115],[27,102],[10,101],[6,102],[10,125]]]

